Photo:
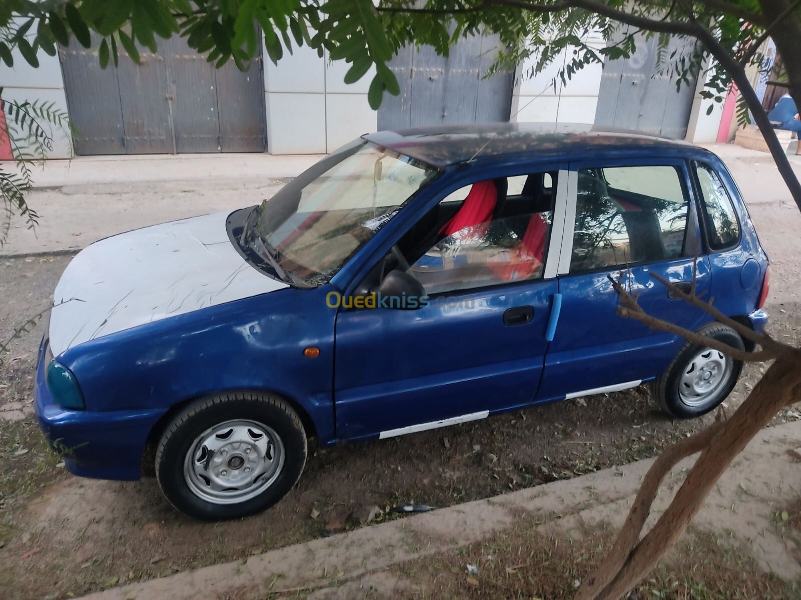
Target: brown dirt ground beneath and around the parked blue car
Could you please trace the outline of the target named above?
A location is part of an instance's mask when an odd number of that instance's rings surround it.
[[[770,330],[801,338],[801,216],[775,202],[751,207],[772,258]],[[0,340],[46,308],[70,255],[0,258]],[[239,522],[177,514],[154,478],[74,478],[47,450],[32,416],[42,323],[11,342],[0,366],[0,590],[4,598],[66,598],[119,583],[287,546],[356,526],[348,515],[375,504],[449,506],[571,478],[657,454],[710,420],[673,421],[646,388],[559,402],[485,421],[316,452],[284,501]],[[764,366],[747,366],[729,410]],[[779,421],[801,418],[787,410]],[[316,517],[312,518],[312,515]]]

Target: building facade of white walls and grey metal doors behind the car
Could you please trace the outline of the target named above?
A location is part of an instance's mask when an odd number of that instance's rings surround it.
[[[54,57],[40,53],[36,69],[17,56],[13,69],[0,67],[0,86],[3,98],[54,102],[68,111],[73,134],[56,134],[50,158],[324,154],[373,130],[497,121],[598,123],[716,141],[723,105],[699,96],[703,82],[676,90],[658,66],[654,43],[643,39],[629,59],[586,66],[567,82],[559,72],[579,51],[572,47],[540,74],[526,62],[491,78],[484,77],[497,46],[491,36],[461,40],[448,58],[425,46],[406,48],[389,64],[400,95],[386,94],[379,110],[367,100],[372,71],[347,85],[348,64],[308,47],[285,54],[277,66],[260,56],[240,72],[231,62],[216,70],[183,38],[159,39],[156,54],[140,49],[139,64],[123,55],[116,69],[100,69],[97,50],[75,42]]]

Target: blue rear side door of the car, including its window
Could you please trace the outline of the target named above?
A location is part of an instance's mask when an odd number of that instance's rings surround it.
[[[610,277],[624,277],[650,315],[696,330],[705,315],[654,279],[689,288],[698,218],[686,165],[677,159],[571,163],[565,243],[558,267],[562,310],[538,400],[622,390],[666,369],[682,340],[619,317]],[[570,241],[572,240],[572,244]],[[710,287],[698,259],[697,292]]]

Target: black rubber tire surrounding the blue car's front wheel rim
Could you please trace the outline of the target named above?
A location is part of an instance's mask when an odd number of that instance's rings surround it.
[[[264,424],[280,438],[283,466],[277,467],[275,480],[254,498],[230,504],[209,502],[191,489],[188,479],[193,476],[184,474],[184,460],[208,430],[239,419]],[[284,399],[256,392],[220,394],[194,402],[175,416],[159,441],[155,474],[164,496],[182,513],[207,521],[241,518],[268,509],[292,490],[303,472],[307,451],[303,423]],[[189,469],[191,472],[191,466]]]

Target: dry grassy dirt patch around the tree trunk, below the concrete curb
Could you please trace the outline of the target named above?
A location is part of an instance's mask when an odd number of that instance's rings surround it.
[[[532,534],[532,530],[518,527],[487,542],[397,566],[384,575],[395,580],[391,597],[569,600],[578,582],[601,562],[616,533],[609,528],[578,535]],[[690,531],[629,596],[633,600],[799,597],[795,582],[765,573],[751,556],[701,531]]]

